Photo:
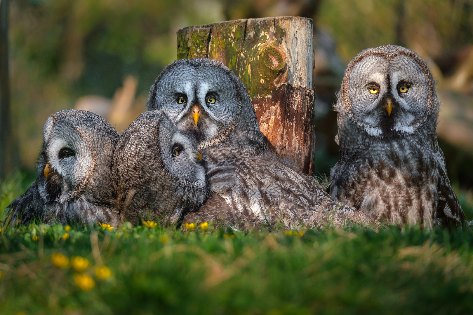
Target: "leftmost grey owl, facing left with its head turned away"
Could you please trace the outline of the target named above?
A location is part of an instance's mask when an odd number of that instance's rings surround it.
[[[90,111],[64,110],[43,128],[38,178],[10,205],[12,222],[100,221],[116,226],[112,154],[120,135]]]

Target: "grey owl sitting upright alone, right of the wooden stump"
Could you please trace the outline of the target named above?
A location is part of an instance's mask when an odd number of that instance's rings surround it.
[[[370,48],[351,60],[335,105],[335,200],[389,224],[464,222],[437,143],[434,84],[425,61],[400,46]]]

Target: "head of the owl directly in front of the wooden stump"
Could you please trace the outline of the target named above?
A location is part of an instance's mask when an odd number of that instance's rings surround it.
[[[184,59],[168,65],[151,87],[148,110],[165,112],[202,149],[223,143],[242,151],[265,148],[244,85],[216,60]]]

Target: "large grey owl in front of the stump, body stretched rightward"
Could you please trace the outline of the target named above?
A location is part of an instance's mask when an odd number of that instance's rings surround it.
[[[315,226],[344,218],[371,223],[368,216],[336,203],[312,178],[300,175],[269,153],[253,104],[244,85],[222,63],[210,59],[178,60],[167,66],[151,87],[149,110],[162,110],[177,127],[200,142],[208,177],[215,166],[234,170],[184,222],[226,221],[243,225]],[[215,182],[218,182],[216,180]],[[325,220],[326,219],[326,220]]]

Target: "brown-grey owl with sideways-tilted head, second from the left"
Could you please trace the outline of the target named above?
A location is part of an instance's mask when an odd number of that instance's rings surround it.
[[[201,205],[208,188],[197,144],[161,111],[135,119],[114,152],[121,220],[173,224],[184,210]]]

